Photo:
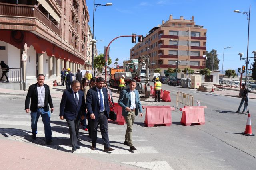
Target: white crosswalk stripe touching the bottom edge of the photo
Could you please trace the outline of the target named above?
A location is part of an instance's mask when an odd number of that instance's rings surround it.
[[[152,161],[152,162],[120,162],[123,164],[134,165],[150,170],[173,170],[173,168],[166,161]]]

